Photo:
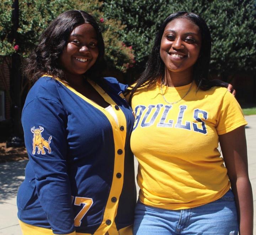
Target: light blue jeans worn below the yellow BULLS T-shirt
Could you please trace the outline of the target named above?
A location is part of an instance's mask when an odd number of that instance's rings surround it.
[[[234,195],[229,190],[222,198],[183,210],[146,206],[135,208],[134,235],[237,235],[238,218]]]

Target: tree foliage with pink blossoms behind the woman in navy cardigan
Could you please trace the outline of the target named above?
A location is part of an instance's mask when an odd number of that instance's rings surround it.
[[[22,58],[38,43],[42,31],[60,13],[79,9],[92,14],[100,24],[106,43],[106,60],[110,67],[126,72],[133,63],[134,55],[130,47],[119,40],[119,32],[124,26],[121,21],[104,19],[98,0],[22,0],[19,1],[19,27],[17,38],[12,35],[13,0],[0,2],[0,56],[18,53]],[[15,47],[18,45],[18,48]],[[15,50],[16,49],[16,50]],[[16,52],[17,51],[17,52]]]

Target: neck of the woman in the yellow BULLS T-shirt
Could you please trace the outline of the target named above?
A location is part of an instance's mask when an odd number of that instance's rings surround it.
[[[165,75],[162,81],[168,87],[181,87],[193,81],[192,68],[185,71],[172,72],[165,67]]]

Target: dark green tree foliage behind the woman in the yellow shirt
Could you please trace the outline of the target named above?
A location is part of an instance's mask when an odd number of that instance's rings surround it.
[[[223,79],[256,70],[255,0],[104,0],[106,18],[127,27],[121,39],[131,45],[137,65],[145,64],[157,29],[173,12],[188,11],[206,20],[212,35],[211,72]]]

